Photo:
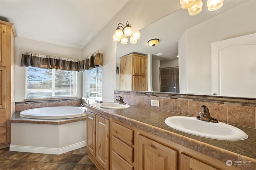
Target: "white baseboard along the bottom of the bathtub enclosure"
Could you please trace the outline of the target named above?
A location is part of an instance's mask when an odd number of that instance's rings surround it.
[[[41,148],[41,147],[34,147],[34,146],[19,146],[19,145],[10,144],[10,151],[59,155],[59,154],[69,152],[71,150],[82,148],[84,146],[86,146],[86,141],[78,142],[76,144],[65,146],[63,148]]]

